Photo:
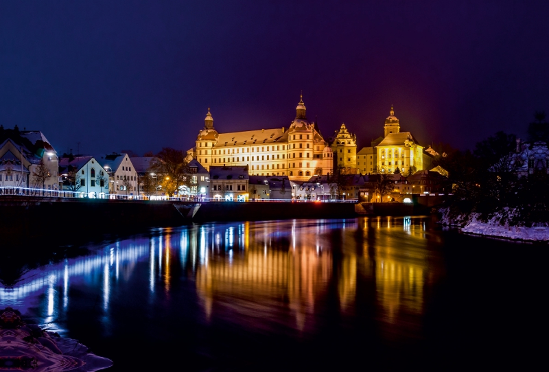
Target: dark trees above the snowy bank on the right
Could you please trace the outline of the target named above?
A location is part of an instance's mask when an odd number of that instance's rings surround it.
[[[545,113],[536,113],[528,126],[528,141],[528,148],[536,142],[548,143]],[[454,193],[450,205],[456,213],[476,212],[487,219],[509,207],[514,211],[511,222],[548,222],[547,169],[521,172],[528,169],[525,161],[517,154],[516,135],[500,131],[476,143],[473,151],[448,150],[436,159],[436,165],[448,172],[446,182]]]

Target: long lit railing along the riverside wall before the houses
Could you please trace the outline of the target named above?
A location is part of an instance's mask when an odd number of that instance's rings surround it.
[[[0,198],[2,196],[29,196],[35,198],[85,198],[85,199],[109,199],[109,200],[167,200],[180,202],[358,202],[358,199],[261,199],[261,198],[200,198],[198,196],[136,196],[126,194],[106,194],[84,191],[69,190],[47,190],[28,187],[0,187]]]

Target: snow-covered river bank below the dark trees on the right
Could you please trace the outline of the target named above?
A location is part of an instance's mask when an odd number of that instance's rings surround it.
[[[487,220],[481,220],[479,213],[455,213],[449,207],[439,210],[440,223],[458,226],[460,231],[492,237],[504,237],[530,242],[549,242],[549,226],[524,226],[515,221],[515,210],[503,208]]]

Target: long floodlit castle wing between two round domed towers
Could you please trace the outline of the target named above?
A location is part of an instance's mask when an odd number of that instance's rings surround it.
[[[211,165],[248,167],[255,176],[288,176],[307,181],[311,176],[333,170],[332,150],[314,122],[307,120],[303,95],[296,118],[288,129],[247,130],[220,133],[213,127],[210,110],[205,126],[196,137],[196,146],[187,151],[207,170]]]

